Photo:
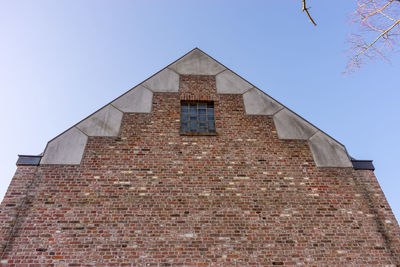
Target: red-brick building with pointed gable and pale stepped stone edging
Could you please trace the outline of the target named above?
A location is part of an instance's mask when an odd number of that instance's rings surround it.
[[[4,265],[400,265],[371,161],[199,49],[17,165]]]

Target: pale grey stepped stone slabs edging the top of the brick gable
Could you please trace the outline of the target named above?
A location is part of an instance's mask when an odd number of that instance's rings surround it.
[[[83,139],[118,136],[123,113],[151,113],[154,93],[178,93],[180,75],[215,76],[217,94],[241,95],[248,116],[271,116],[279,139],[307,141],[318,167],[352,166],[344,145],[198,48],[50,140],[41,163],[79,164],[86,146]]]

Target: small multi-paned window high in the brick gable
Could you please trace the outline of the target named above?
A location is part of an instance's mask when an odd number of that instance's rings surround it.
[[[214,102],[181,102],[181,133],[215,134]]]

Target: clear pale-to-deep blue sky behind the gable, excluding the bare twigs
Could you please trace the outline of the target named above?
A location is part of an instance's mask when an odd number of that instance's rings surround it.
[[[344,76],[355,0],[1,1],[0,198],[17,154],[47,141],[199,47],[373,159],[400,218],[400,57]]]

